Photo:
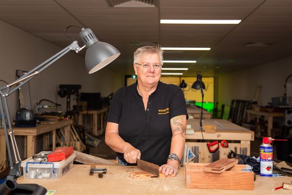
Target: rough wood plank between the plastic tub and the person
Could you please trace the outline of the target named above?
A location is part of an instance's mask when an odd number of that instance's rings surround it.
[[[107,164],[107,165],[120,165],[117,163],[114,163],[110,160],[107,159],[103,159],[97,156],[92,156],[92,155],[88,155],[85,153],[81,153],[78,151],[74,151],[76,157],[74,158],[74,161],[76,162],[80,162],[83,164]]]

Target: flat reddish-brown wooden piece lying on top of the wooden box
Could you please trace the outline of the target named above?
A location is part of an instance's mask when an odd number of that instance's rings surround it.
[[[220,174],[223,171],[235,166],[237,163],[237,159],[221,158],[213,163],[204,166],[203,171]]]

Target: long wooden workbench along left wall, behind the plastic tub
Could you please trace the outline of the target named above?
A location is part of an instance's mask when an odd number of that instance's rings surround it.
[[[43,124],[37,125],[37,127],[13,127],[15,136],[25,136],[25,146],[24,146],[24,154],[26,157],[31,157],[36,154],[36,140],[37,136],[40,134],[44,134],[44,143],[49,143],[48,139],[50,137],[50,133],[52,133],[53,137],[53,150],[55,150],[56,144],[56,130],[64,128],[65,132],[65,141],[70,141],[70,125],[72,125],[73,120],[61,120],[54,121],[52,124]],[[18,147],[21,147],[18,145]],[[47,148],[43,148],[47,149]],[[6,158],[6,140],[4,136],[4,129],[0,129],[0,161]]]

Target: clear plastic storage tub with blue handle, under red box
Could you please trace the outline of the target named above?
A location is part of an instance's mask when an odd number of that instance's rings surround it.
[[[65,175],[73,167],[73,153],[67,159],[58,162],[36,162],[32,157],[23,160],[24,178],[29,179],[57,179]]]

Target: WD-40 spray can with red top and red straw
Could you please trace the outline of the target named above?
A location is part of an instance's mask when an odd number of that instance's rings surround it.
[[[273,146],[271,145],[273,140],[288,141],[288,139],[273,139],[272,137],[263,138],[263,143],[259,146],[260,176],[273,176]]]

